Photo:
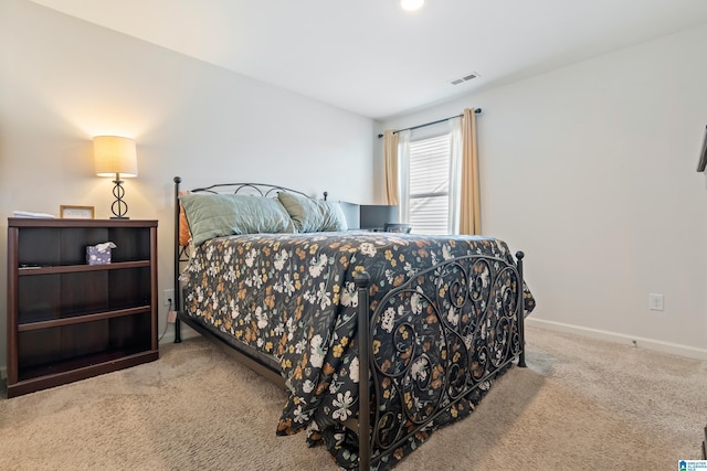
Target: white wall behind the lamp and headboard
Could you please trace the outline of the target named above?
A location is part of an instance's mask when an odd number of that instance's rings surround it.
[[[135,138],[131,218],[159,220],[159,289],[171,288],[172,176],[187,188],[257,181],[366,202],[373,121],[23,0],[0,2],[0,292],[7,217],[93,205],[110,215],[112,182],[93,174],[95,135]],[[0,297],[0,365],[6,302]],[[165,325],[160,311],[160,333]],[[171,332],[170,332],[171,333]]]

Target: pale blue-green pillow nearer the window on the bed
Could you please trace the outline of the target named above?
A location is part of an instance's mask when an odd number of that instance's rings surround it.
[[[314,200],[296,193],[277,193],[300,233],[346,231],[346,217],[338,203]]]

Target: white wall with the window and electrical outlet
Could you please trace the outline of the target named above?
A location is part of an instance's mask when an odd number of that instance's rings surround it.
[[[707,357],[705,57],[707,24],[382,128],[483,108],[482,227],[525,250],[532,318]]]

